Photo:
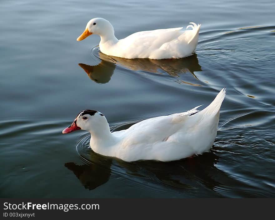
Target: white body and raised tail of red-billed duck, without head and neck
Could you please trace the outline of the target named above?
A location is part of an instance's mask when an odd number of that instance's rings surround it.
[[[225,94],[222,89],[202,111],[197,106],[184,113],[147,119],[122,131],[117,157],[171,161],[208,151],[217,135]]]

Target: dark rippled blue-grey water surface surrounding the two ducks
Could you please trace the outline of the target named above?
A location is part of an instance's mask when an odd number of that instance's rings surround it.
[[[275,197],[274,9],[273,0],[2,0],[0,196]],[[126,60],[99,53],[98,36],[76,41],[93,17],[118,38],[202,27],[191,57]],[[93,153],[83,131],[61,134],[83,109],[121,130],[207,106],[223,87],[217,138],[201,156],[125,163]]]

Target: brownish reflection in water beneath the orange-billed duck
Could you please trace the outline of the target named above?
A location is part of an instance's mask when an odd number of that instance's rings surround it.
[[[191,73],[198,80],[194,72],[202,71],[198,63],[197,54],[179,59],[125,59],[107,56],[99,52],[101,62],[98,65],[90,66],[79,63],[78,65],[88,74],[88,77],[96,83],[108,83],[113,75],[116,65],[133,71],[145,71],[149,73],[168,73],[172,77],[179,77],[182,73]],[[181,80],[181,83],[187,83]],[[187,83],[189,85],[198,85]]]

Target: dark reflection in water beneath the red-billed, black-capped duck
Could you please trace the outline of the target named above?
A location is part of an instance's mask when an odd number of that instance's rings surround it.
[[[163,187],[167,187],[167,190],[176,190],[181,195],[194,195],[195,192],[200,197],[247,196],[242,191],[243,187],[247,187],[245,183],[216,168],[219,157],[214,152],[215,146],[210,152],[178,161],[128,163],[90,150],[89,156],[86,155],[89,158],[84,158],[86,164],[71,162],[65,163],[65,167],[73,171],[88,190],[93,190],[112,178],[120,179],[127,185],[129,182],[132,186],[142,184],[143,187],[149,187],[149,190],[163,190]],[[250,188],[253,190],[252,186]],[[207,192],[210,194],[203,194],[205,189],[209,189]]]

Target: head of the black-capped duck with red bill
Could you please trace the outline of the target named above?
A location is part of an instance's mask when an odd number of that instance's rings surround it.
[[[86,130],[92,134],[97,135],[107,129],[110,131],[109,124],[105,116],[95,110],[83,110],[74,119],[73,123],[65,128],[62,133],[67,134],[76,130]]]

